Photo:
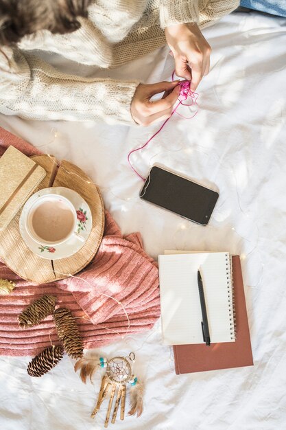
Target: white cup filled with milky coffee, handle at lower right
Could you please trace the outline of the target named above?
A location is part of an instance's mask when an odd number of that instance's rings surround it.
[[[25,229],[39,245],[61,245],[73,236],[84,242],[77,227],[75,207],[64,196],[45,194],[34,200],[25,216]]]

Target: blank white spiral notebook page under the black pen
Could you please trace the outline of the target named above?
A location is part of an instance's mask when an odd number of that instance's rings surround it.
[[[176,253],[158,256],[158,262],[163,343],[204,343],[199,269],[211,342],[235,341],[230,254]]]

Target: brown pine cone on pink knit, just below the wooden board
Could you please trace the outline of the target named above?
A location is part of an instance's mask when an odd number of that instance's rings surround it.
[[[32,327],[39,324],[42,319],[52,315],[55,310],[56,297],[43,295],[40,299],[32,302],[18,317],[19,326],[22,328]]]

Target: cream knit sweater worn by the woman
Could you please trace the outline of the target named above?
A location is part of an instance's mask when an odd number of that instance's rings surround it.
[[[134,124],[130,104],[139,81],[82,78],[56,70],[34,49],[102,68],[118,67],[165,44],[164,28],[206,27],[238,0],[95,0],[71,34],[39,32],[0,53],[0,112],[31,120],[95,120]]]

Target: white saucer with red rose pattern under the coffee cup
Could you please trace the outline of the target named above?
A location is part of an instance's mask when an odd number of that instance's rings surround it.
[[[66,199],[71,201],[78,215],[77,231],[80,233],[80,236],[84,238],[84,241],[78,240],[74,235],[64,243],[55,245],[54,247],[49,247],[47,245],[39,245],[38,242],[29,236],[27,230],[25,229],[25,216],[32,203],[34,203],[38,197],[45,196],[46,194],[59,194],[60,196],[66,197]],[[73,254],[80,251],[80,249],[86,243],[89,234],[91,233],[93,220],[91,209],[86,201],[82,199],[80,194],[65,187],[45,188],[44,190],[40,190],[33,194],[26,201],[20,216],[19,227],[25,244],[29,249],[31,249],[32,252],[36,253],[41,258],[47,258],[48,260],[60,260],[60,258],[71,257]]]

